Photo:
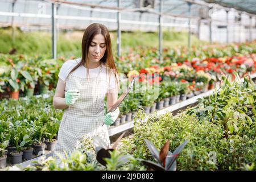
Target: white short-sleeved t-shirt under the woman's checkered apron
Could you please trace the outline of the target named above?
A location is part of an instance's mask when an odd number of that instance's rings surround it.
[[[68,73],[81,61],[81,58],[75,59],[75,60],[68,60],[65,61],[65,63],[60,68],[59,72],[59,78],[61,80],[65,80],[65,78],[68,76]],[[100,67],[90,69],[89,68],[89,77],[95,78],[98,76],[98,73],[100,72]],[[73,74],[80,78],[86,78],[87,76],[87,68],[84,66],[80,66],[75,71],[73,71]],[[117,88],[117,83],[115,81],[115,75],[114,75],[114,69],[112,69],[112,72],[110,73],[110,81],[109,81],[109,71],[107,71],[106,66],[102,65],[100,77],[103,78],[108,84],[109,89]]]

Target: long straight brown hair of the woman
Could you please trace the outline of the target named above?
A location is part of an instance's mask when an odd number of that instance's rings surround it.
[[[118,71],[117,67],[115,66],[114,62],[114,57],[112,53],[112,46],[111,46],[111,39],[109,35],[108,28],[106,28],[103,24],[100,23],[93,23],[90,24],[86,30],[84,31],[84,35],[82,36],[82,59],[81,61],[71,70],[71,72],[68,73],[68,76],[70,73],[75,71],[77,68],[79,68],[82,65],[86,65],[87,68],[87,73],[89,76],[89,68],[88,68],[88,62],[89,62],[89,57],[88,57],[88,51],[89,51],[89,46],[90,43],[92,42],[94,36],[101,34],[105,38],[106,42],[106,51],[104,53],[104,56],[101,58],[101,63],[104,64],[107,67],[108,73],[109,73],[109,80],[110,80],[110,71],[114,71],[115,75],[115,81],[117,82],[117,85],[119,85],[118,81]],[[67,76],[67,77],[68,77]],[[67,80],[67,78],[64,80]]]

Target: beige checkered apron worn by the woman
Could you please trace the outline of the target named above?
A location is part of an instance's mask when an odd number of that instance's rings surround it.
[[[85,68],[86,69],[86,68]],[[100,66],[100,72],[102,65]],[[80,78],[73,74],[66,80],[65,90],[78,89],[80,97],[75,104],[65,109],[57,137],[55,154],[64,156],[64,150],[71,154],[82,136],[99,136],[110,146],[109,134],[104,122],[104,99],[108,91],[108,82],[100,78]]]

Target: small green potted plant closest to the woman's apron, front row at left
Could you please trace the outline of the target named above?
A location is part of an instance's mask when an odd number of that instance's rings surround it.
[[[54,121],[46,123],[46,147],[49,151],[54,151],[55,145],[57,143],[56,139],[53,139],[57,135],[57,132],[59,131],[60,124]]]

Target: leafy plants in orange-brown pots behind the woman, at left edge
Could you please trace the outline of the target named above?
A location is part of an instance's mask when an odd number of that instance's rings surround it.
[[[19,98],[44,94],[56,86],[59,59],[44,60],[42,57],[0,55],[0,98]]]

